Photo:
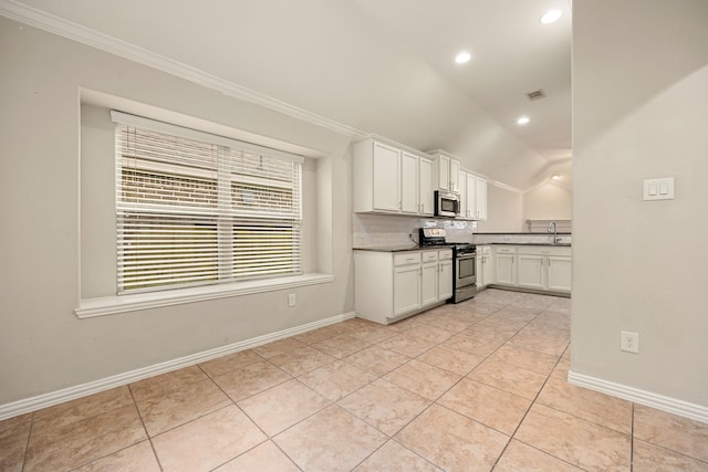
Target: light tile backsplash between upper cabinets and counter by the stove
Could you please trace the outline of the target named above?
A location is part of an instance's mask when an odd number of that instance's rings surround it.
[[[476,221],[353,213],[354,248],[397,247],[418,243],[418,228],[445,228],[448,242],[472,242]],[[413,239],[412,239],[413,235]]]

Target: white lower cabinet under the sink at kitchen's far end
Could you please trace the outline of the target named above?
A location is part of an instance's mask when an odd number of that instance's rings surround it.
[[[569,247],[519,245],[494,248],[496,284],[550,292],[571,292]]]

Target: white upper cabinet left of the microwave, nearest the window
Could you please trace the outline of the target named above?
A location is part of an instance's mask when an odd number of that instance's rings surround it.
[[[379,139],[354,144],[354,211],[433,214],[433,162]]]

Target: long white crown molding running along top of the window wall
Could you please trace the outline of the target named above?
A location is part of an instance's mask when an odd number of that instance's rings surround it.
[[[98,31],[67,21],[61,17],[29,7],[15,0],[0,0],[0,15],[29,24],[40,30],[76,41],[82,44],[108,52],[123,59],[137,62],[167,74],[184,78],[226,96],[249,102],[272,109],[292,118],[300,119],[353,138],[366,136],[366,133],[352,126],[308,112],[280,99],[243,87],[181,62],[165,57],[144,48],[131,44]]]

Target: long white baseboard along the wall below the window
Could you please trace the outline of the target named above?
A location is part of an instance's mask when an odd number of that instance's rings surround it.
[[[306,325],[283,329],[277,333],[270,333],[251,339],[241,340],[229,344],[228,346],[217,347],[215,349],[205,350],[178,359],[167,360],[165,363],[155,364],[136,370],[106,377],[100,380],[81,384],[74,387],[63,388],[61,390],[51,391],[49,394],[38,395],[37,397],[25,398],[12,401],[10,403],[0,405],[0,420],[17,417],[18,415],[29,413],[42,408],[63,403],[65,401],[75,400],[76,398],[86,397],[88,395],[98,394],[100,391],[111,388],[121,387],[159,374],[177,370],[183,367],[194,366],[227,354],[238,353],[239,350],[250,349],[256,346],[271,343],[273,340],[285,337],[295,336],[312,329],[329,326],[355,317],[354,312],[343,313],[341,315],[331,316],[319,322],[309,323]]]

